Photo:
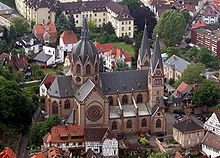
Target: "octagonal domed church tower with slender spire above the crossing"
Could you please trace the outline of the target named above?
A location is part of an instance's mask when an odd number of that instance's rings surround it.
[[[88,78],[95,84],[99,80],[99,55],[95,45],[89,40],[86,18],[83,19],[81,40],[72,52],[72,78],[75,85],[82,85]]]

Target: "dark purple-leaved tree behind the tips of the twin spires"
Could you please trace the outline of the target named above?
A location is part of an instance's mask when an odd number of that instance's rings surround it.
[[[138,32],[143,31],[145,23],[147,25],[148,37],[152,37],[153,29],[157,24],[154,13],[148,7],[138,7],[133,13],[132,17],[135,18],[135,25]]]

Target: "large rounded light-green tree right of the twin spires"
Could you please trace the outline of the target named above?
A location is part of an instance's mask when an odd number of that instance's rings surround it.
[[[176,10],[168,10],[158,20],[154,35],[158,35],[167,47],[174,46],[183,39],[185,28],[186,20],[183,14]]]

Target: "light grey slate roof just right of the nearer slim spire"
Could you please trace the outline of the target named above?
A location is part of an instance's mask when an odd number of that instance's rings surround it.
[[[178,56],[171,56],[164,62],[165,65],[172,67],[172,69],[177,70],[181,73],[187,68],[190,62],[178,57]]]

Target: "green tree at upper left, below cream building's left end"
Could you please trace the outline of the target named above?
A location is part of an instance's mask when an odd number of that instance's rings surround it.
[[[29,32],[30,25],[24,19],[13,18],[12,23],[15,27],[16,34],[18,37],[24,36],[25,33]]]

